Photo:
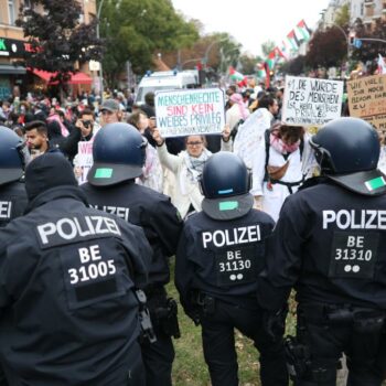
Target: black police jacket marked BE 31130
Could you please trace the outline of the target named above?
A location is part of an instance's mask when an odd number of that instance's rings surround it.
[[[175,286],[187,314],[194,308],[192,291],[257,305],[257,277],[274,225],[268,214],[254,208],[229,221],[213,219],[204,212],[187,217],[175,256]]]

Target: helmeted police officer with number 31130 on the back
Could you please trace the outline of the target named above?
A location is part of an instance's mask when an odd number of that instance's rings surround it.
[[[264,386],[287,386],[282,333],[262,330],[256,298],[272,218],[253,208],[250,173],[229,152],[214,154],[201,180],[203,211],[187,217],[176,253],[175,285],[185,313],[202,325],[212,385],[237,386],[234,329],[260,352]]]

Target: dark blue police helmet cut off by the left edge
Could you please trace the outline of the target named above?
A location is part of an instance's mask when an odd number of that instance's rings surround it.
[[[23,175],[23,140],[11,129],[0,126],[0,185]]]

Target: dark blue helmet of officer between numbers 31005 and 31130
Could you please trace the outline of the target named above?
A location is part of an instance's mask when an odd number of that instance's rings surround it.
[[[94,140],[94,165],[87,174],[88,182],[108,186],[141,175],[147,144],[146,138],[131,125],[106,125]]]

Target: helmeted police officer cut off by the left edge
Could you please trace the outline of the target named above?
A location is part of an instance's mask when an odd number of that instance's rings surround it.
[[[23,141],[12,130],[0,126],[0,227],[23,214],[26,206]]]

